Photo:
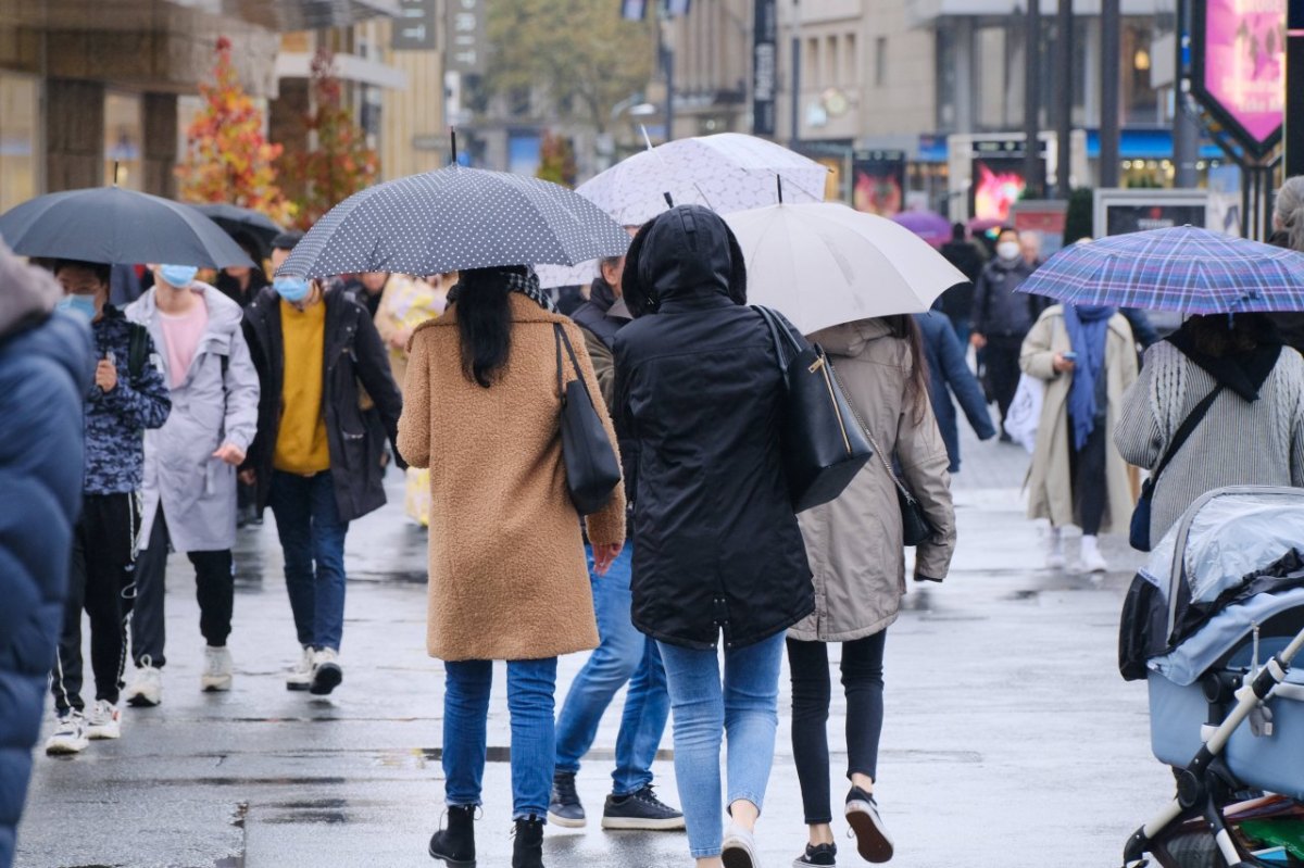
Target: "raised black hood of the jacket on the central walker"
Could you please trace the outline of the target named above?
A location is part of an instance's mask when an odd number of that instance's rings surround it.
[[[700,205],[681,205],[648,228],[638,255],[639,283],[655,298],[729,295],[733,233]]]

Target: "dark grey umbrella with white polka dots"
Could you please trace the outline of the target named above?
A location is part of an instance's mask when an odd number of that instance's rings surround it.
[[[450,166],[344,199],[278,274],[446,274],[493,266],[575,265],[618,257],[621,225],[571,190],[523,175]]]

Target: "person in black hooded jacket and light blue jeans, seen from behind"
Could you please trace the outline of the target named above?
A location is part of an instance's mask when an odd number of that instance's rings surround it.
[[[720,216],[670,209],[639,229],[627,257],[635,319],[613,354],[635,503],[634,626],[665,663],[689,851],[699,868],[755,868],[784,632],[815,607],[780,452],[785,383]]]

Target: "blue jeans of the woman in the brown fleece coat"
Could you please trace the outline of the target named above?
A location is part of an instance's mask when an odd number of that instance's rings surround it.
[[[493,662],[443,665],[443,778],[450,807],[480,805],[488,751],[489,688]],[[546,822],[553,785],[553,691],[557,658],[507,661],[507,710],[511,713],[512,818]]]

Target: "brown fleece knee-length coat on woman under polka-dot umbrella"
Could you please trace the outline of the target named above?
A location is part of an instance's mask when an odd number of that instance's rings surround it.
[[[566,493],[553,323],[575,348],[613,450],[615,431],[580,330],[526,296],[510,298],[511,354],[489,388],[462,373],[456,305],[408,344],[398,444],[408,464],[430,468],[426,646],[446,661],[540,659],[597,645]],[[623,485],[587,523],[595,543],[625,541]]]

